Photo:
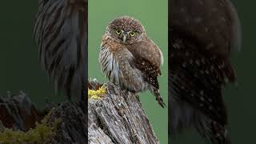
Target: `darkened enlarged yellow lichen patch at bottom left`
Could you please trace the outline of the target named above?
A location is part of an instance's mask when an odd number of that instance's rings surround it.
[[[13,130],[4,128],[0,130],[0,143],[42,143],[56,135],[60,118],[56,118],[54,122],[47,122],[50,114],[47,114],[40,123],[36,122],[34,129],[26,132],[21,130]]]

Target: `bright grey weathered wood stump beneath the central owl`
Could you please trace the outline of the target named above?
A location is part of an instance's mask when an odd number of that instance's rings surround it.
[[[138,96],[105,86],[105,96],[88,103],[89,143],[159,143]]]

